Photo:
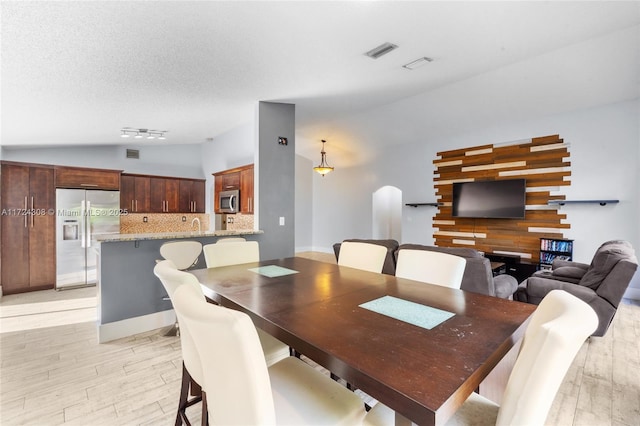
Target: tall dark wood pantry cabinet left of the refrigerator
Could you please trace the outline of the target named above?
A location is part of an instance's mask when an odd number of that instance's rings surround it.
[[[53,166],[2,162],[0,250],[5,294],[53,288],[56,280]]]

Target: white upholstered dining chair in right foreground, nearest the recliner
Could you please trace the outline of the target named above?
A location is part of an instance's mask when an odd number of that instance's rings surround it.
[[[502,405],[474,392],[446,425],[544,425],[567,370],[597,326],[588,304],[566,291],[551,291],[527,326]],[[363,424],[393,425],[394,418],[391,409],[378,403]]]

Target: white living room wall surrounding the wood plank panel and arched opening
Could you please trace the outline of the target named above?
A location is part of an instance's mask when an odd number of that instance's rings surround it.
[[[389,108],[398,117],[402,102]],[[415,107],[415,100],[411,100]],[[385,108],[344,119],[345,133],[364,139],[375,138],[377,128],[403,127],[402,121],[379,120]],[[328,251],[345,238],[371,236],[371,194],[379,187],[393,185],[403,192],[403,203],[435,201],[433,160],[438,151],[501,143],[559,134],[570,144],[571,186],[563,188],[567,199],[619,199],[619,204],[573,205],[561,207],[571,229],[565,233],[575,240],[574,258],[590,262],[594,251],[606,240],[625,239],[640,252],[640,100],[627,101],[530,120],[505,122],[448,136],[423,138],[429,121],[405,128],[405,143],[374,151],[365,164],[340,167],[313,180],[313,245]],[[493,120],[495,122],[495,120]],[[424,126],[424,129],[420,126]],[[375,142],[375,141],[374,141]],[[374,143],[375,145],[375,143]],[[335,155],[334,155],[335,159]],[[344,164],[349,161],[344,161]],[[299,192],[299,191],[298,191]],[[403,242],[432,244],[433,207],[403,207]],[[640,274],[632,283],[640,298]],[[632,290],[636,291],[636,290]],[[635,297],[635,296],[634,296]]]

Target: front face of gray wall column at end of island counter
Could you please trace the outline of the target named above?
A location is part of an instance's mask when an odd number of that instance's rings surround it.
[[[279,145],[278,137],[288,139]],[[277,259],[294,254],[295,241],[295,105],[258,104],[258,162],[256,181],[260,257]],[[280,218],[285,224],[281,226]]]

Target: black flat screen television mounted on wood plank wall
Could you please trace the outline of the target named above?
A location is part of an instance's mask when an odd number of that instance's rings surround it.
[[[526,180],[484,180],[453,184],[453,217],[524,219]]]

